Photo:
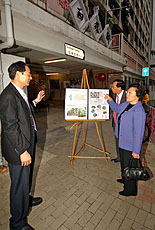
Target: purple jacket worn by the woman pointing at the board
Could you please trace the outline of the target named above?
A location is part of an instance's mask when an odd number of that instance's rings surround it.
[[[122,104],[116,104],[113,100],[107,102],[111,109],[118,113],[117,121],[120,114],[129,105],[127,101]],[[145,119],[146,114],[140,101],[130,110],[122,114],[119,131],[119,148],[140,154],[144,136]],[[115,136],[118,138],[118,122],[116,122]]]

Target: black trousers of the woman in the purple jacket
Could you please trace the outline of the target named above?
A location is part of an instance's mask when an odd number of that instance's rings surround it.
[[[129,166],[129,162],[132,158],[132,152],[119,148],[120,153],[120,162],[121,162],[121,172],[124,168]],[[134,159],[132,162],[133,167],[138,166],[138,160]],[[137,181],[135,180],[125,180],[123,179],[124,183],[124,193],[127,195],[136,195],[137,194]]]

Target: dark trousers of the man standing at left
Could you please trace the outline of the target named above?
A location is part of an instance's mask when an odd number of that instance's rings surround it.
[[[8,164],[10,187],[10,228],[20,230],[29,212],[30,166]]]

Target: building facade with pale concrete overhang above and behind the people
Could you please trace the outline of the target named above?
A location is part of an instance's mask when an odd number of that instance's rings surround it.
[[[21,5],[20,0],[1,1],[1,90],[7,82],[6,60],[11,56],[11,60],[25,58],[31,67],[34,81],[30,96],[35,96],[35,88],[44,85],[47,97],[64,99],[65,83],[72,82],[77,87],[83,69],[93,78],[92,87],[109,88],[114,78],[123,78],[127,86],[147,82],[155,91],[154,72],[150,70],[147,81],[142,77],[142,68],[149,64],[152,0],[80,0],[89,21],[84,30],[78,28],[71,14],[73,2],[76,1],[22,0]],[[95,39],[90,29],[95,13],[101,32],[109,24],[109,47],[103,36]],[[83,59],[69,56],[66,44],[83,52]],[[45,63],[60,59],[65,61]]]

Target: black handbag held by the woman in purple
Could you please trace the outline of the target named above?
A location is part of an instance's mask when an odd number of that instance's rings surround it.
[[[140,167],[131,167],[133,159],[134,158],[132,157],[129,162],[129,166],[123,170],[122,177],[126,180],[148,180],[150,178],[150,175],[147,171],[147,168],[144,168],[142,166],[142,162],[140,159],[138,159]]]

